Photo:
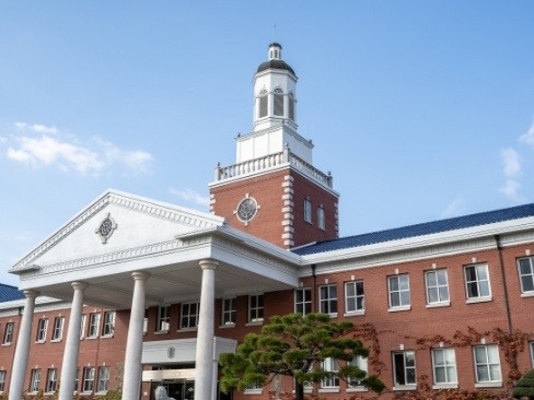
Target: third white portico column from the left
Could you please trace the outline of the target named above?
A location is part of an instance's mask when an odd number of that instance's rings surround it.
[[[123,399],[138,400],[141,388],[142,328],[144,321],[144,283],[147,272],[134,272],[134,296],[131,298],[130,323],[126,341]]]

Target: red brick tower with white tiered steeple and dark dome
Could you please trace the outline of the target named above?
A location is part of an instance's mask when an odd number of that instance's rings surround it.
[[[236,160],[218,165],[210,211],[244,232],[291,248],[338,237],[339,195],[313,166],[297,130],[297,74],[272,43],[253,79],[252,132],[235,138]]]

